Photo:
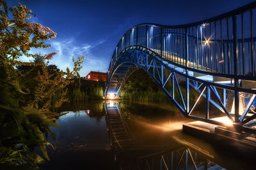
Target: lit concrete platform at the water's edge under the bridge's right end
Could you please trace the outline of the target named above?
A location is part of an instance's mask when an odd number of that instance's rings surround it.
[[[208,124],[205,122],[190,122],[183,124],[183,132],[191,134],[196,138],[205,139],[216,145],[230,146],[230,148],[248,149],[256,153],[256,135],[245,132],[236,132],[232,127]]]

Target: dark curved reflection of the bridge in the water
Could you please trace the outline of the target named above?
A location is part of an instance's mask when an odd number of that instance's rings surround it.
[[[223,169],[212,162],[214,155],[175,138],[182,148],[150,150],[132,138],[118,103],[105,103],[106,122],[115,159],[121,169]]]

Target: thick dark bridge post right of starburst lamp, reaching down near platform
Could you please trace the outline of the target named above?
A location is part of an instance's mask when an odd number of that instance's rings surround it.
[[[239,91],[238,87],[238,79],[237,79],[237,24],[236,24],[236,15],[232,16],[232,27],[233,27],[233,49],[234,49],[234,87],[235,87],[235,122],[239,122]]]

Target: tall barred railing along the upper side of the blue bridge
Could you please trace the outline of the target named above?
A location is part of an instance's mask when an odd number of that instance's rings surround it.
[[[150,48],[188,69],[254,80],[256,75],[256,2],[218,17],[187,25],[140,24],[125,32],[116,57],[128,46]]]

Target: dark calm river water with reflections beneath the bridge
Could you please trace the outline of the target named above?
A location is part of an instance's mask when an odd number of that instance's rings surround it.
[[[68,113],[56,122],[60,129],[52,128],[56,150],[49,149],[51,161],[43,169],[193,169],[193,162],[198,169],[253,169],[243,150],[230,152],[182,133],[182,124],[191,120],[170,104],[93,101],[61,111]]]

